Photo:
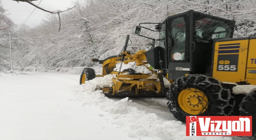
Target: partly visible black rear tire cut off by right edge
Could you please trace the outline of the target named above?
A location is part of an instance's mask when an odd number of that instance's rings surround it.
[[[241,116],[252,116],[252,136],[256,137],[256,90],[247,94],[239,104]]]

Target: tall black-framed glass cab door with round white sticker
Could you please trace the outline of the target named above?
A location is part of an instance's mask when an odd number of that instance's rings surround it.
[[[190,74],[189,21],[189,12],[168,18],[168,78],[172,80]]]

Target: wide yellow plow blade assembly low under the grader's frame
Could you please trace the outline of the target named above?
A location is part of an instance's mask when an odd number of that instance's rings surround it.
[[[107,97],[111,96],[166,96],[168,83],[161,88],[156,75],[117,75],[113,79],[112,87],[97,87]],[[167,81],[168,82],[168,81]]]

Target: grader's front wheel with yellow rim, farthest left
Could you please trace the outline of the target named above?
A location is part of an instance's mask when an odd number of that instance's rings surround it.
[[[95,71],[92,68],[84,68],[80,76],[80,84],[84,84],[85,81],[92,80],[96,77]]]

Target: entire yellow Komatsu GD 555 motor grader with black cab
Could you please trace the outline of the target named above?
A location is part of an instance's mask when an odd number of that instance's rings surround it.
[[[155,29],[141,24],[154,24]],[[161,23],[140,23],[141,30],[159,32],[159,46],[135,54],[126,51],[105,60],[102,75],[117,74],[112,87],[103,88],[105,95],[164,95],[164,78],[171,85],[166,98],[175,118],[186,123],[186,116],[252,116],[256,128],[256,91],[233,94],[237,85],[256,85],[256,36],[233,38],[235,21],[189,10],[168,16]],[[113,71],[116,63],[150,64],[152,74],[126,74]],[[85,68],[80,84],[95,77]],[[172,82],[173,81],[173,82]]]

